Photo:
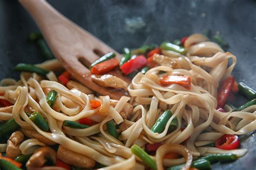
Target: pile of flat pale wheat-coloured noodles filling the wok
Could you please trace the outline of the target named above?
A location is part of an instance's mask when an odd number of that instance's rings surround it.
[[[223,134],[245,134],[256,129],[256,105],[234,112],[228,105],[225,105],[227,112],[215,109],[219,84],[231,75],[237,61],[235,56],[228,52],[224,53],[219,45],[198,35],[191,36],[185,47],[188,50],[187,56],[163,51],[164,55],[176,61],[176,67],[158,66],[150,69],[145,75],[138,73],[128,87],[131,97],[123,96],[114,108],[110,105],[109,96],[96,97],[77,89],[69,90],[56,82],[53,72],[47,76],[49,80],[42,80],[42,77],[35,73],[22,73],[18,82],[11,79],[3,80],[2,83],[8,82],[10,86],[0,87],[0,93],[4,93],[0,98],[14,103],[14,108],[12,114],[0,112],[0,120],[14,118],[21,128],[35,129],[66,149],[84,154],[106,165],[105,169],[143,169],[142,161],[131,153],[130,147],[133,144],[144,148],[147,143],[162,142],[172,148],[170,144],[181,144],[188,137],[190,138],[186,140],[186,147],[193,158],[212,153],[234,153],[238,157],[245,155],[246,149],[226,151],[204,147],[206,144],[214,143]],[[228,60],[232,61],[230,65]],[[52,71],[61,67],[57,60],[38,66]],[[163,74],[190,76],[191,89],[187,90],[178,84],[160,86],[159,77]],[[46,89],[58,93],[53,108],[46,102]],[[102,106],[92,109],[89,102],[92,98],[97,98]],[[127,102],[134,107],[133,115],[123,119],[119,112]],[[146,105],[150,105],[150,108]],[[162,133],[152,132],[151,127],[166,109],[172,111],[172,116],[165,130]],[[39,111],[42,114],[49,123],[50,132],[42,131],[29,119],[26,112],[32,111]],[[167,133],[175,116],[178,119],[178,128]],[[62,126],[65,120],[78,121],[83,117],[88,117],[97,124],[86,129]],[[233,118],[230,121],[231,117]],[[118,129],[119,140],[106,131],[105,124],[112,119],[116,124],[122,124]],[[203,130],[207,132],[201,133]],[[36,139],[29,139],[23,141],[20,148],[23,154],[28,154],[38,145],[45,144]],[[168,151],[171,152],[172,149]],[[159,169],[186,161],[184,158],[163,160],[164,154],[165,150],[161,149],[152,157],[157,161]]]

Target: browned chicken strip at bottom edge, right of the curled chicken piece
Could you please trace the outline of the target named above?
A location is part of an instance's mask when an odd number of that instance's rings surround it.
[[[65,162],[66,164],[76,167],[92,168],[95,166],[95,160],[86,157],[83,154],[67,150],[61,145],[58,148],[57,158]]]

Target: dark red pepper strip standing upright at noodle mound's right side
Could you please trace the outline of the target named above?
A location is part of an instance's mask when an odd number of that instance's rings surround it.
[[[222,108],[224,106],[224,104],[226,103],[227,98],[231,93],[233,84],[234,84],[234,77],[230,76],[221,85],[219,93],[218,93],[218,97],[217,97],[219,107]]]

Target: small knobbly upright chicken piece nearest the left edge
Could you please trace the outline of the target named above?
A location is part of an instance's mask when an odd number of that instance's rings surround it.
[[[19,150],[19,145],[24,139],[24,134],[21,131],[16,131],[11,134],[10,138],[7,141],[6,146],[6,157],[15,159],[21,155],[21,150]]]

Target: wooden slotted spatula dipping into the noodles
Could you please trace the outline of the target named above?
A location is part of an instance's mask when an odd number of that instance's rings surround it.
[[[109,95],[116,100],[127,95],[121,90],[99,86],[92,81],[88,69],[91,63],[99,59],[99,56],[109,52],[116,53],[116,58],[120,60],[122,56],[119,53],[71,22],[46,1],[19,0],[19,2],[35,20],[52,53],[73,77],[101,95]],[[124,77],[118,69],[107,74],[115,75],[130,83],[130,79]]]

